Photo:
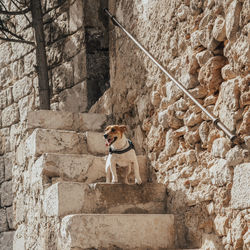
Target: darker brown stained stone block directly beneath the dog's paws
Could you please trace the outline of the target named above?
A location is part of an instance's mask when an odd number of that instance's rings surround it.
[[[165,213],[166,187],[162,184],[95,183],[89,187],[88,200],[91,201],[91,210],[85,210],[84,213]]]

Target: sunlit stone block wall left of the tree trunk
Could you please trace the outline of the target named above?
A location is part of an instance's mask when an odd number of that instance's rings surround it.
[[[5,1],[11,5],[10,1]],[[12,9],[14,7],[12,6]],[[28,26],[25,18],[17,17],[17,32]],[[31,28],[23,32],[32,39]],[[26,44],[0,41],[0,248],[12,249],[13,194],[12,167],[16,146],[20,142],[27,111],[36,109],[37,76],[34,72],[34,48]]]

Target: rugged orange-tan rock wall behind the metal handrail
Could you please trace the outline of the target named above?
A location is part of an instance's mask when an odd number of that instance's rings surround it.
[[[127,124],[168,188],[180,247],[248,249],[248,0],[111,1],[110,11],[209,111],[232,144],[110,24],[111,88],[92,107]]]

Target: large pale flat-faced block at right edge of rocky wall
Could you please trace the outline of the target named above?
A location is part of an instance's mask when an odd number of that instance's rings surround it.
[[[234,168],[233,186],[231,190],[231,206],[234,209],[250,207],[250,163],[243,163]]]

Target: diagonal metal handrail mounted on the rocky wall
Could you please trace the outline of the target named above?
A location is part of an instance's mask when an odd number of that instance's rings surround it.
[[[164,67],[148,52],[116,19],[115,16],[113,16],[107,8],[104,9],[104,12],[108,14],[108,16],[111,18],[112,23],[115,26],[118,26],[121,28],[126,35],[156,64],[160,70],[166,74],[212,121],[213,123],[220,128],[231,141],[234,141],[236,139],[236,135],[233,134],[220,120],[219,118],[215,117],[213,114],[211,114],[208,110],[206,110],[194,97],[189,91],[178,81],[176,80]]]

